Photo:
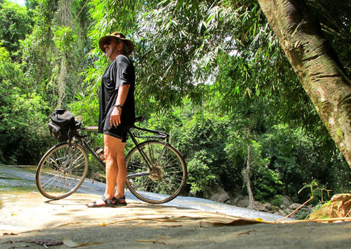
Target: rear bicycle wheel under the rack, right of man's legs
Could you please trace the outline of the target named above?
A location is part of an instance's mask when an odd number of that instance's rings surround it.
[[[170,144],[147,141],[135,146],[125,159],[130,192],[145,202],[160,204],[172,200],[186,183],[186,164]]]

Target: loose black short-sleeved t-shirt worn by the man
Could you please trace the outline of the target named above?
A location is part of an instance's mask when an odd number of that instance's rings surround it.
[[[125,55],[118,55],[102,76],[100,88],[99,133],[110,124],[110,114],[116,103],[119,87],[130,84],[127,99],[123,103],[121,124],[130,127],[134,124],[134,86],[135,71],[132,61]],[[105,124],[106,123],[106,124]]]

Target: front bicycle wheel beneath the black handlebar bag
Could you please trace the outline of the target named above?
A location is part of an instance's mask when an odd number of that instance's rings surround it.
[[[88,156],[80,144],[68,142],[45,153],[36,170],[36,185],[46,198],[59,200],[82,185],[88,171]]]

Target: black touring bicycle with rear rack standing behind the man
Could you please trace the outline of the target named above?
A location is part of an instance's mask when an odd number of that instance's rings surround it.
[[[143,121],[137,117],[136,122]],[[70,142],[53,146],[43,156],[36,170],[36,185],[40,194],[52,200],[70,196],[82,185],[88,172],[88,154],[93,155],[101,170],[105,163],[86,142],[88,135],[97,127],[76,130]],[[141,132],[152,133],[144,136]],[[134,148],[125,157],[128,169],[126,185],[136,198],[152,204],[173,200],[182,191],[187,178],[186,163],[180,152],[169,144],[169,134],[131,127],[128,131]],[[145,141],[138,142],[136,138]]]

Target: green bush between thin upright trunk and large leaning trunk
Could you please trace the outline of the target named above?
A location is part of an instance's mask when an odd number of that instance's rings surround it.
[[[274,127],[261,136],[261,144],[263,156],[269,159],[267,167],[278,172],[284,184],[283,194],[295,201],[308,198],[306,193],[298,195],[304,183],[314,177],[326,184],[336,173],[333,168],[343,167],[342,161],[323,153],[323,144],[319,145],[316,137],[308,137],[301,130]]]

